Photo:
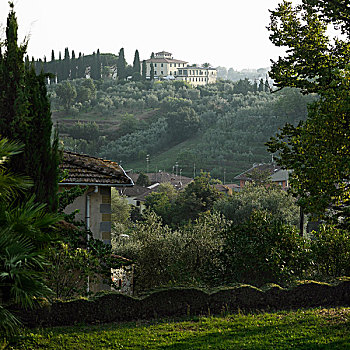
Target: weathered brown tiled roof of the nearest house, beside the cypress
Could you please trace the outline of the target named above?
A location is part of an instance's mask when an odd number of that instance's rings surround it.
[[[130,177],[116,162],[85,154],[64,151],[60,169],[67,172],[62,185],[133,185]]]

